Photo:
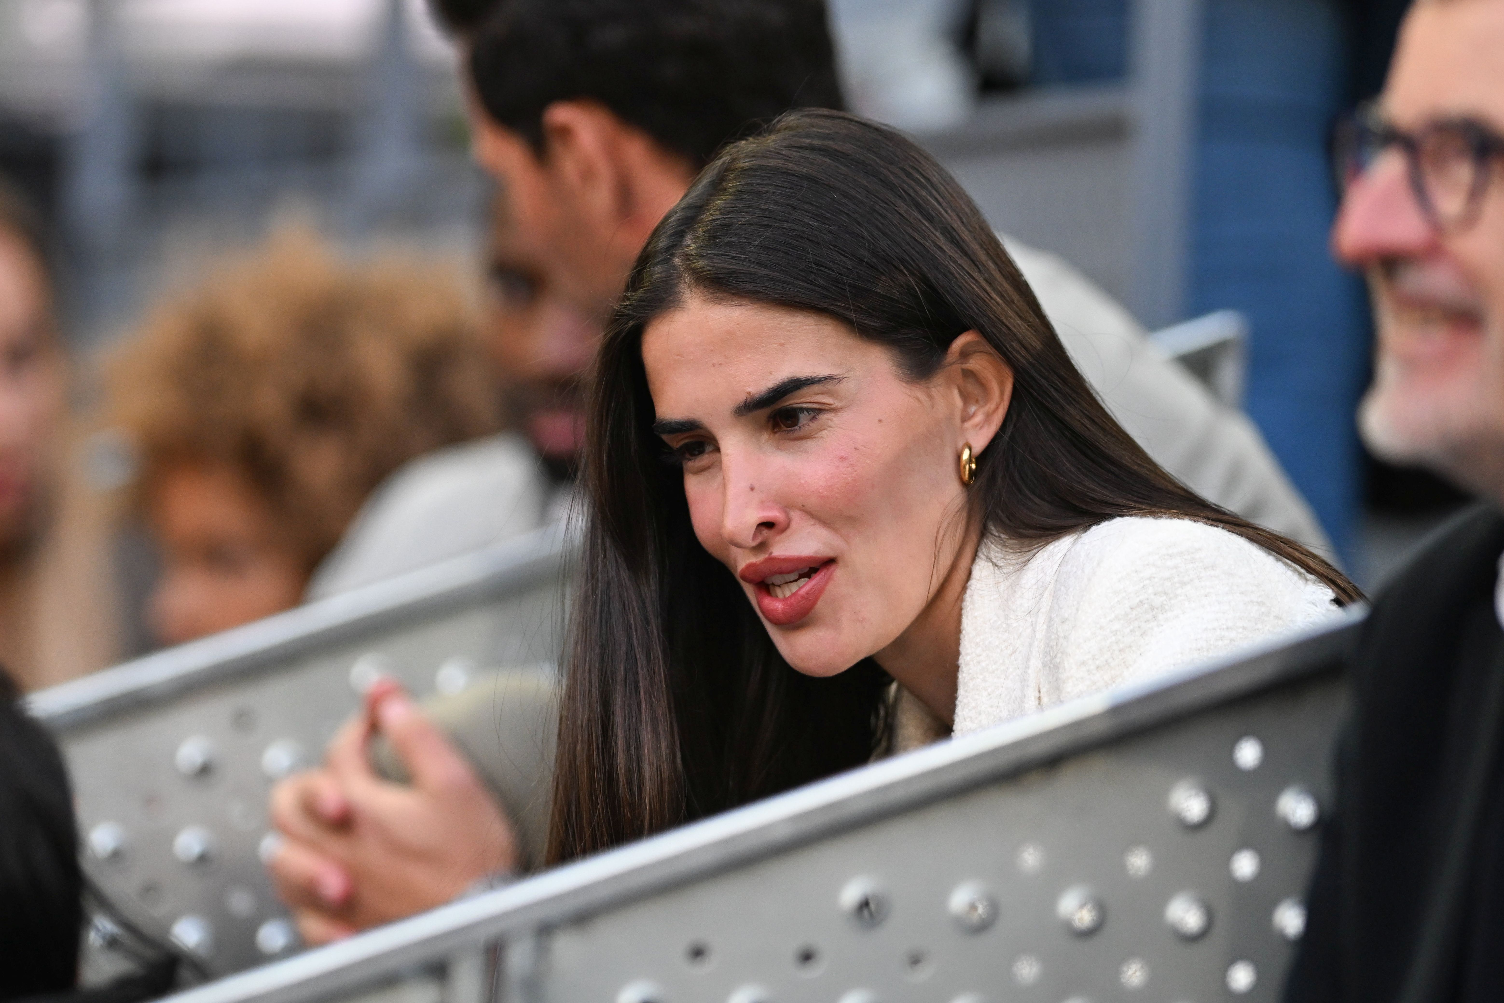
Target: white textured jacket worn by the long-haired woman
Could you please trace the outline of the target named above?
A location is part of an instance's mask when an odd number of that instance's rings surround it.
[[[961,605],[954,734],[1229,654],[1336,615],[1254,543],[1188,519],[1111,519],[1036,550],[978,547]],[[898,693],[893,749],[943,735]]]

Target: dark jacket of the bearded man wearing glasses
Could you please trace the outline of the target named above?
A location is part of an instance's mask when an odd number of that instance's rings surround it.
[[[1468,510],[1363,627],[1292,1003],[1504,1000],[1501,552]]]

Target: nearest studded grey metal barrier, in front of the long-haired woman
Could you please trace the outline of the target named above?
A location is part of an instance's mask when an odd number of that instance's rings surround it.
[[[1360,617],[173,998],[1272,1000]]]

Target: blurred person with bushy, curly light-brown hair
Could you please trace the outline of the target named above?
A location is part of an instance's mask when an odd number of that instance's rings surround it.
[[[388,474],[501,426],[445,269],[346,265],[301,230],[161,304],[113,362],[110,417],[161,550],[164,644],[295,606]]]

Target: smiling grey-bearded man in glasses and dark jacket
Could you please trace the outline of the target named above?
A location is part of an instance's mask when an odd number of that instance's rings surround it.
[[[1381,457],[1484,504],[1379,597],[1289,1000],[1504,1000],[1504,0],[1418,0],[1336,144]]]

